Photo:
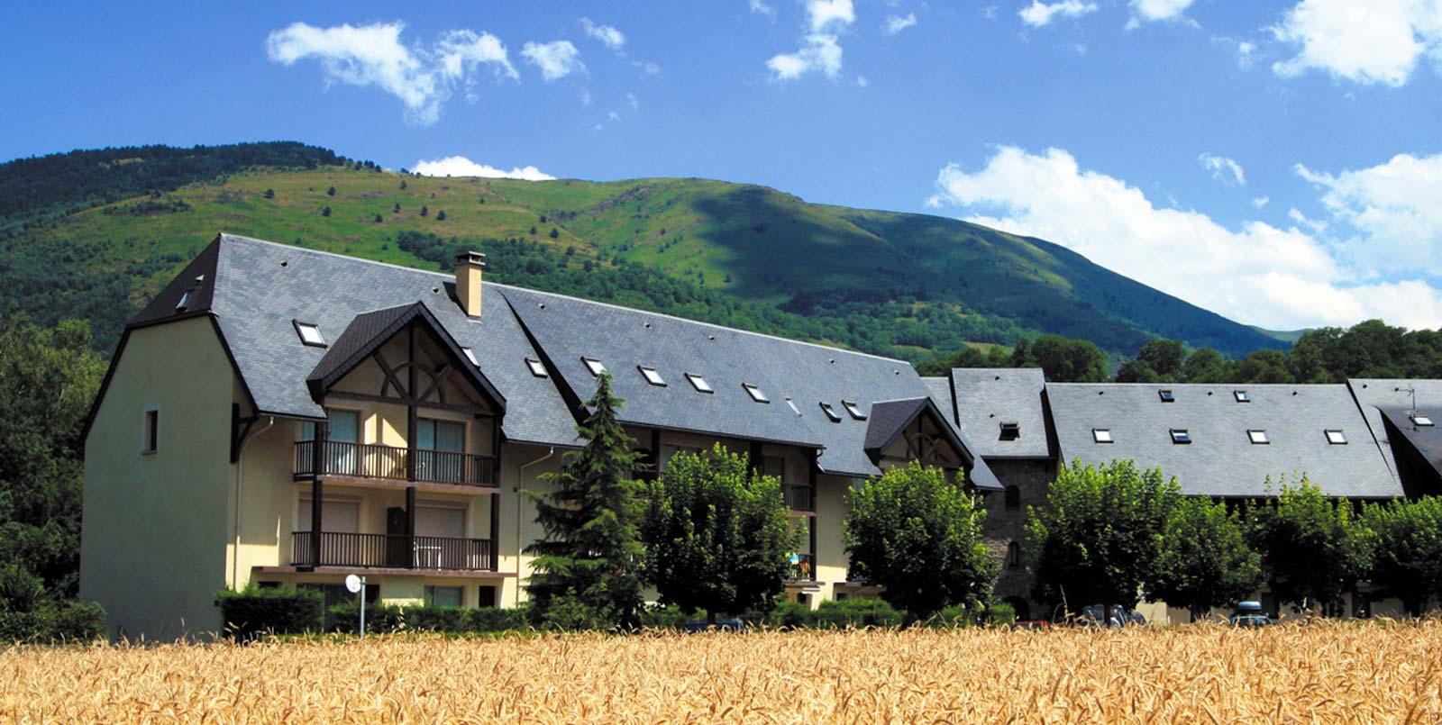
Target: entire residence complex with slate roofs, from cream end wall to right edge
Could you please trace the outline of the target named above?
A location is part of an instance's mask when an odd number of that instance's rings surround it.
[[[787,595],[810,602],[875,595],[846,578],[845,492],[911,460],[983,494],[996,592],[1024,614],[1021,523],[1060,461],[1135,458],[1213,497],[1262,497],[1301,471],[1340,497],[1438,492],[1442,441],[1419,422],[1442,405],[1432,381],[921,378],[483,283],[483,268],[474,254],[448,275],[231,235],[206,246],[127,327],[87,427],[81,597],[111,633],[215,631],[225,587],[339,601],[348,574],[384,601],[523,601],[523,551],[544,535],[523,492],[580,447],[603,370],[640,477],[720,442],[782,479],[806,530]]]

